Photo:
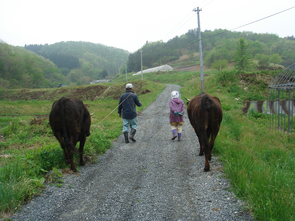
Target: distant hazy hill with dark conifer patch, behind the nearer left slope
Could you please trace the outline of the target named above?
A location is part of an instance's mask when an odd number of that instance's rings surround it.
[[[118,65],[121,66],[124,62],[127,62],[129,55],[129,52],[123,49],[82,41],[58,42],[50,45],[26,44],[24,48],[48,58],[62,72],[82,67],[93,69],[89,70],[90,72],[106,70],[114,74]]]

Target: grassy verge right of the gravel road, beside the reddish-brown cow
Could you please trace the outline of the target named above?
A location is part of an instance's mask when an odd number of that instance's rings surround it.
[[[295,134],[270,130],[264,114],[244,115],[242,107],[243,100],[265,99],[266,81],[275,75],[226,72],[205,77],[205,91],[220,98],[224,114],[214,154],[224,164],[232,191],[248,203],[256,220],[265,221],[295,219]],[[198,80],[190,81],[181,93],[192,98],[200,88]]]

